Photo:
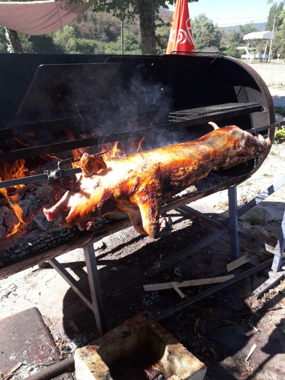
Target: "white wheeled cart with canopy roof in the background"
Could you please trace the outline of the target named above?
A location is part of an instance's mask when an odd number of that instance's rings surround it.
[[[274,34],[268,31],[265,32],[253,32],[253,33],[248,33],[244,35],[243,38],[244,41],[247,42],[247,46],[239,46],[237,47],[238,50],[245,50],[246,54],[242,54],[241,58],[244,58],[248,63],[252,63],[256,58],[260,59],[261,62],[267,62],[269,59],[269,54],[266,54],[267,46],[268,46],[268,41],[269,40],[274,40]],[[250,47],[250,41],[260,41],[260,40],[266,40],[266,45],[264,49],[264,53],[260,54],[260,51],[258,47],[253,46]],[[250,51],[253,50],[253,51]]]

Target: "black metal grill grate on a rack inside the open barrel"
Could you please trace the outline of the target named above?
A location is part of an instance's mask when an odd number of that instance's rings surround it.
[[[214,106],[206,106],[192,109],[182,109],[180,111],[169,112],[169,121],[182,121],[199,119],[208,116],[239,116],[251,112],[262,111],[259,103],[226,103]]]

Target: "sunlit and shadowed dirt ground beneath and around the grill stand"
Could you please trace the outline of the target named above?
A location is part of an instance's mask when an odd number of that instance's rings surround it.
[[[239,204],[249,201],[279,180],[285,174],[284,168],[285,143],[274,144],[260,170],[238,186]],[[227,216],[227,192],[216,193],[190,206],[223,220]],[[281,188],[244,214],[239,220],[239,228],[275,246],[284,209],[285,191]],[[173,220],[173,232],[163,239],[154,241],[150,237],[141,237],[133,228],[128,228],[98,244],[98,269],[108,329],[141,311],[148,311],[156,317],[181,302],[174,290],[145,292],[142,284],[130,285],[125,291],[120,291],[122,283],[131,282],[154,263],[159,264],[171,254],[191,247],[216,231],[177,210],[169,212],[169,215]],[[229,254],[229,239],[225,237],[144,283],[226,275]],[[242,240],[240,254],[256,262],[270,257],[264,250]],[[82,286],[87,287],[82,249],[62,255],[58,260]],[[245,264],[233,273],[241,273],[247,268]],[[285,287],[277,284],[274,290],[256,300],[252,292],[265,280],[261,274],[253,275],[160,321],[167,331],[207,365],[207,380],[284,378]],[[182,291],[190,298],[207,288],[209,285],[183,288]],[[92,312],[52,268],[33,267],[2,280],[0,299],[0,318],[37,307],[54,340],[67,345],[71,351],[96,338]],[[244,336],[253,326],[258,331],[249,337]],[[245,359],[253,344],[257,346],[247,363]]]

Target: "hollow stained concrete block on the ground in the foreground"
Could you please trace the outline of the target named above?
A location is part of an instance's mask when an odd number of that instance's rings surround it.
[[[77,380],[141,379],[155,370],[165,380],[202,380],[207,369],[148,313],[78,348],[74,360]]]

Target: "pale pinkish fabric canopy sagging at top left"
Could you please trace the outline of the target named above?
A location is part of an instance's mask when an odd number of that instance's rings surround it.
[[[70,4],[70,0],[0,2],[0,24],[17,32],[41,35],[69,24],[92,3]]]

